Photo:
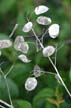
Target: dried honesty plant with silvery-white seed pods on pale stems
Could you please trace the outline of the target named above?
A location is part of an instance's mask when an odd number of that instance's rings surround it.
[[[44,5],[40,5],[37,6],[34,9],[34,13],[35,15],[37,15],[37,19],[36,19],[36,23],[43,25],[43,26],[49,26],[47,28],[47,30],[45,31],[44,34],[42,34],[41,37],[44,38],[45,34],[48,32],[49,36],[53,39],[55,39],[56,37],[58,37],[59,35],[59,25],[58,24],[52,24],[51,25],[51,18],[46,17],[46,16],[40,16],[41,14],[44,14],[45,12],[47,12],[49,10],[48,7],[44,6]],[[38,16],[39,15],[39,16]],[[10,34],[9,38],[11,38],[15,32],[15,30],[17,29],[18,24],[15,25],[12,33]],[[40,39],[38,38],[38,36],[36,35],[35,31],[34,31],[34,24],[32,21],[27,21],[27,23],[23,26],[22,31],[25,33],[28,32],[32,32],[34,37],[36,38],[37,43],[41,46],[42,48],[42,54],[43,57],[47,57],[50,61],[50,63],[52,64],[54,70],[56,71],[56,73],[52,73],[52,72],[46,72],[43,69],[41,69],[37,64],[34,66],[34,69],[32,70],[32,76],[28,77],[26,82],[25,82],[25,89],[27,91],[32,91],[37,87],[38,81],[37,81],[37,77],[40,77],[43,74],[51,74],[54,75],[60,82],[61,84],[64,86],[65,90],[67,91],[67,93],[69,94],[69,96],[71,97],[71,93],[69,92],[68,88],[66,87],[63,79],[61,78],[59,71],[55,65],[55,63],[52,61],[52,59],[50,58],[55,52],[56,52],[56,48],[53,45],[48,45],[44,47],[44,41],[43,43],[40,41]],[[29,60],[27,57],[28,51],[29,51],[29,45],[28,42],[25,41],[24,37],[19,35],[16,37],[16,39],[14,40],[14,44],[10,39],[4,39],[4,40],[0,40],[0,50],[4,49],[4,48],[9,48],[11,46],[14,46],[15,50],[21,52],[20,55],[18,55],[18,59],[20,59],[22,62],[24,63],[29,63],[32,60]],[[1,55],[1,52],[0,52]],[[9,87],[8,87],[8,83],[7,83],[7,75],[10,73],[10,71],[4,75],[2,69],[0,69],[2,75],[4,76],[4,79],[6,81],[6,85],[7,85],[7,90],[8,90],[8,94],[9,94],[9,99],[10,99],[10,104],[7,104],[6,102],[0,100],[1,103],[5,104],[7,107],[9,108],[14,108],[13,104],[12,104],[12,100],[11,100],[11,95],[10,95],[10,91],[9,91]]]

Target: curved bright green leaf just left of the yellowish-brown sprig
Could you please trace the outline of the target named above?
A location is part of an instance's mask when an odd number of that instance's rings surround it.
[[[35,106],[35,108],[39,108],[41,103],[43,103],[44,101],[46,102],[47,98],[53,96],[54,96],[54,91],[50,88],[45,88],[40,92],[38,92],[37,95],[34,97],[33,105]]]

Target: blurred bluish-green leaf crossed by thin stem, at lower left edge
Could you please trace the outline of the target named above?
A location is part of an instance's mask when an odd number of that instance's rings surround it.
[[[17,85],[9,78],[7,78],[8,86],[10,89],[10,94],[12,98],[16,98],[19,95],[19,90]],[[3,76],[0,75],[0,99],[3,99],[5,101],[9,101],[8,91],[6,82],[3,78]]]

